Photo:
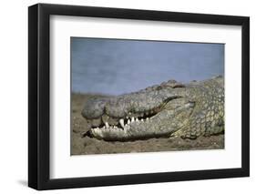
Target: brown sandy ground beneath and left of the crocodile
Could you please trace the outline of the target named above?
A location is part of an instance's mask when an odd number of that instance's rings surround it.
[[[86,119],[81,116],[81,110],[87,97],[91,97],[91,95],[72,94],[71,155],[224,148],[224,135],[207,138],[200,137],[195,140],[150,138],[127,142],[108,142],[96,138],[83,137],[82,134],[89,129],[87,128]]]

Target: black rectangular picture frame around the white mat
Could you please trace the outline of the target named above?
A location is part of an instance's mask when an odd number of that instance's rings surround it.
[[[50,15],[241,26],[241,168],[50,179]],[[32,5],[28,7],[28,88],[28,186],[31,188],[39,190],[69,189],[250,176],[250,18],[247,16],[205,15],[78,5]]]

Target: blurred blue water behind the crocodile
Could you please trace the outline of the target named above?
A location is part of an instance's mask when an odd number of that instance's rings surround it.
[[[224,75],[224,45],[71,38],[72,91],[119,95]]]

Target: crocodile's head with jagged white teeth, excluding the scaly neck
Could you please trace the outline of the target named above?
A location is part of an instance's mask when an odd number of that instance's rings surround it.
[[[195,102],[188,89],[169,80],[118,97],[89,98],[82,111],[90,130],[87,136],[127,140],[167,136],[189,121]]]

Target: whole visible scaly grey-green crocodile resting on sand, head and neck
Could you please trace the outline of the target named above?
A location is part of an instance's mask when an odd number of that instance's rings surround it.
[[[107,141],[218,135],[224,133],[224,77],[91,97],[81,114],[90,128],[86,136]]]

